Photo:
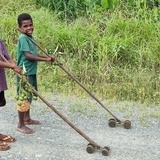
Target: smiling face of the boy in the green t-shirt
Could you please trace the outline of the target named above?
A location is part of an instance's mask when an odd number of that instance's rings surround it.
[[[21,26],[19,26],[22,33],[27,35],[32,35],[34,26],[31,20],[24,20],[22,21]]]

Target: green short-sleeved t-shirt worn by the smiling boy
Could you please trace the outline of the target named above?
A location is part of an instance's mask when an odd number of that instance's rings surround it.
[[[34,40],[34,38],[31,36]],[[33,75],[37,73],[37,61],[28,60],[25,51],[30,52],[33,55],[38,55],[36,45],[31,42],[25,34],[21,34],[18,38],[17,44],[17,65],[23,69],[26,69],[26,75]]]

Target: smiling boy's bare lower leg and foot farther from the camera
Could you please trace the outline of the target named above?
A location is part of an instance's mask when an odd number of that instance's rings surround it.
[[[31,119],[30,109],[28,111],[26,111],[25,114],[24,114],[24,124],[25,125],[32,125],[32,124],[33,125],[38,125],[38,124],[40,124],[39,121]]]

